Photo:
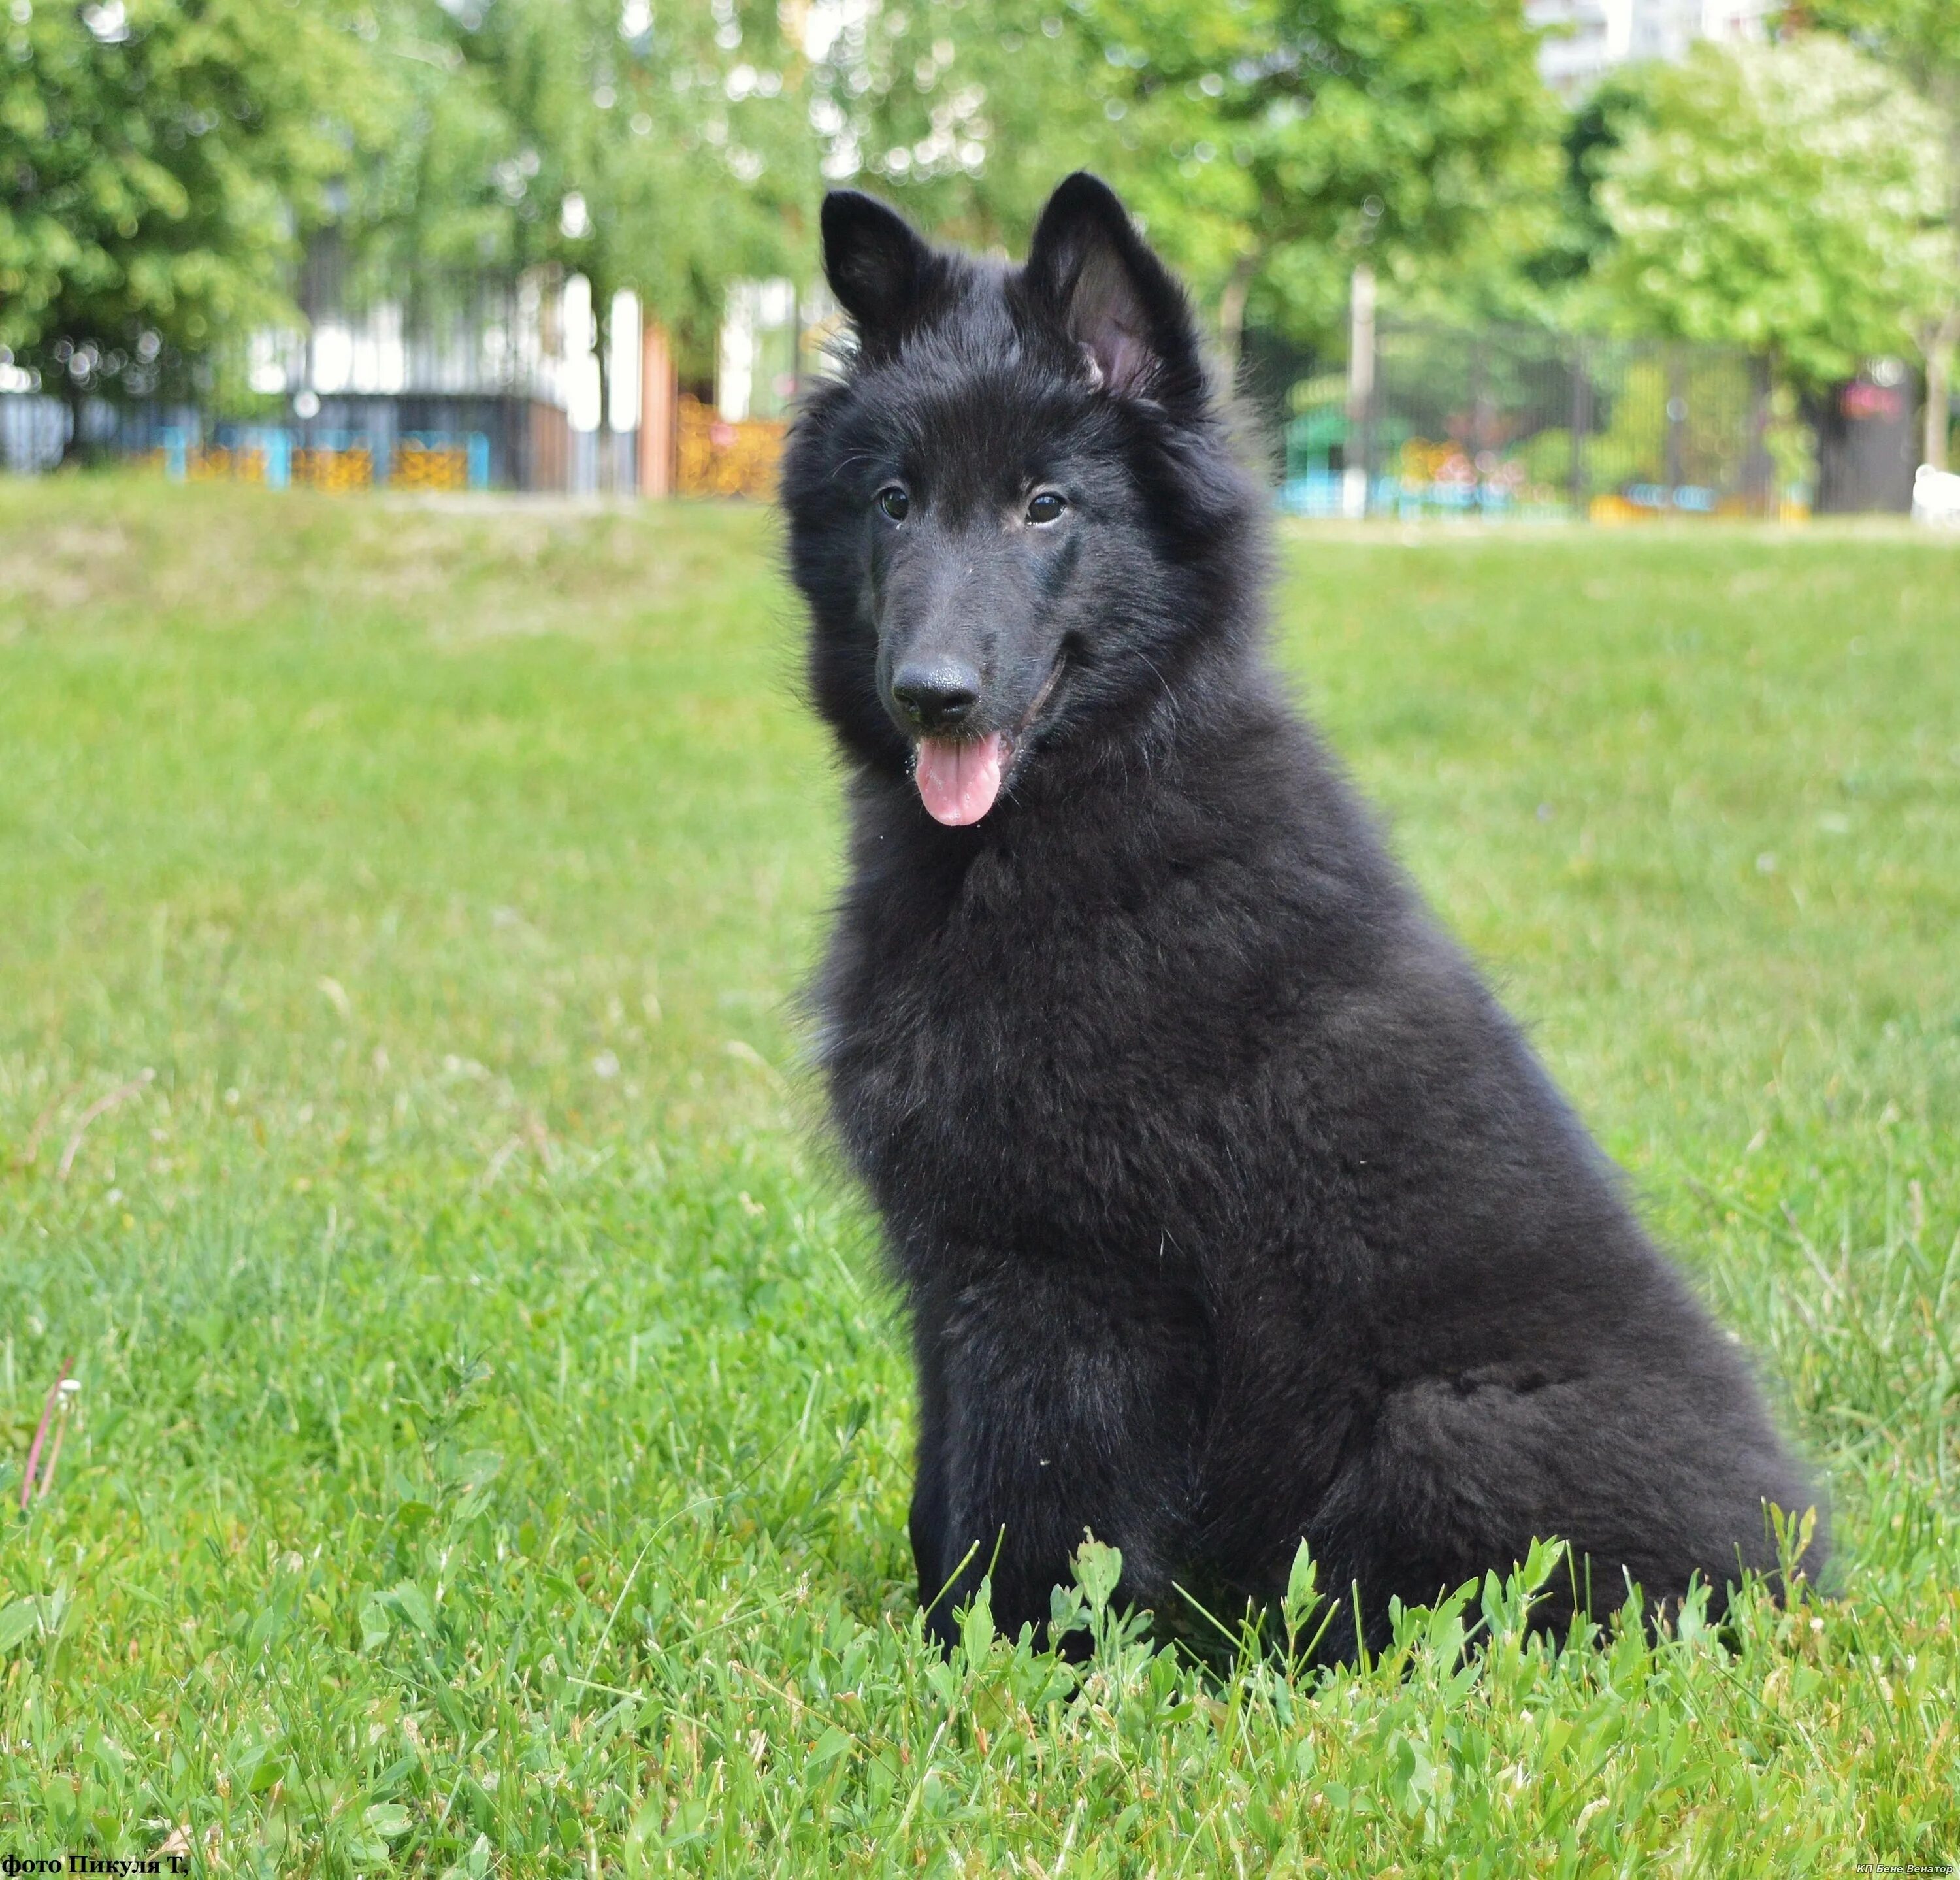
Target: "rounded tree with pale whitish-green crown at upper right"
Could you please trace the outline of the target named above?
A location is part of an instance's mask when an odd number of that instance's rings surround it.
[[[1770,355],[1805,388],[1917,343],[1950,294],[1931,108],[1829,33],[1646,73],[1605,161],[1623,322]]]

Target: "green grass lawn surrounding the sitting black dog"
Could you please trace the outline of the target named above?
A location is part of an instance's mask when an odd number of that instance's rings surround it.
[[[1554,1658],[1480,1588],[1317,1682],[1105,1611],[1080,1684],[939,1662],[794,1068],[839,823],[770,519],[14,484],[0,1856],[1960,1860],[1960,555],[1299,533],[1282,616],[1825,1464],[1827,1598]]]

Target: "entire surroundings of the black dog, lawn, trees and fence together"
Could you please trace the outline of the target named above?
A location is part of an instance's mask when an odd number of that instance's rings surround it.
[[[1078,165],[1829,1600],[923,1643],[766,496],[823,190]],[[0,1866],[1950,1870],[1956,225],[1956,0],[0,0]]]

